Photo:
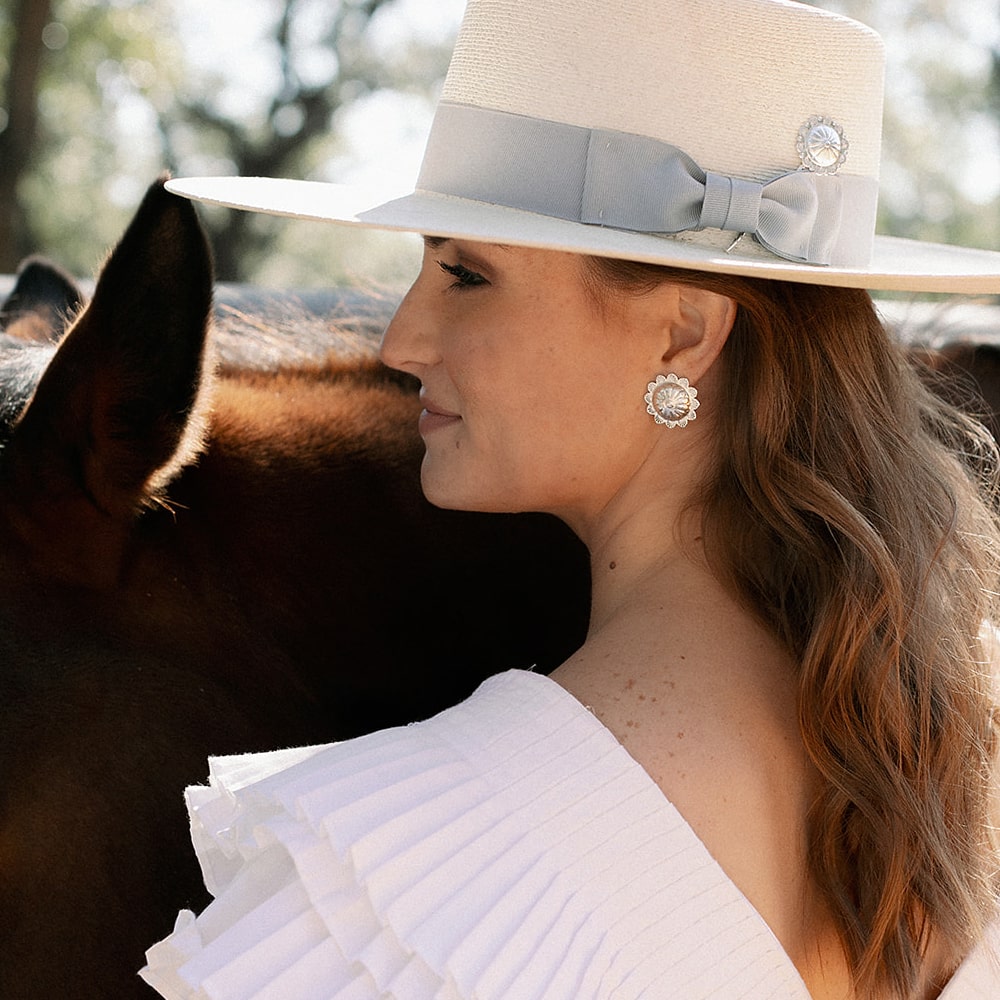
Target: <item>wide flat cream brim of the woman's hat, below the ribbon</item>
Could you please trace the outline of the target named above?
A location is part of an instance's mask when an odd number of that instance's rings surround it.
[[[386,200],[384,192],[353,185],[272,177],[186,177],[174,194],[212,205],[372,229],[563,250],[693,270],[884,291],[1000,294],[1000,253],[949,244],[876,236],[866,268],[783,260],[750,237],[735,246],[705,246],[659,236],[585,225],[426,191]],[[732,234],[719,234],[732,244]]]

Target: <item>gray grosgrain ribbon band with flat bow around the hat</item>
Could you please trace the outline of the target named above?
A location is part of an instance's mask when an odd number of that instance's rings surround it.
[[[839,267],[867,266],[878,192],[874,178],[806,170],[728,177],[647,136],[448,103],[417,186],[639,233],[748,233],[787,260]]]

